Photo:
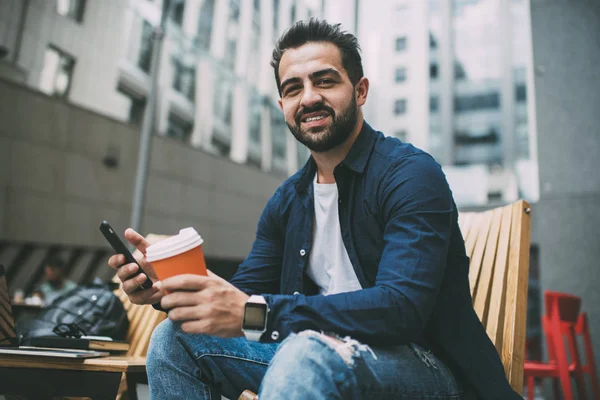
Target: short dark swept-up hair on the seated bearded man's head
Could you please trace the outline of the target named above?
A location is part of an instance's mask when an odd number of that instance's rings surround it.
[[[311,18],[308,21],[298,21],[287,29],[279,38],[273,49],[271,66],[275,70],[275,81],[277,90],[281,95],[281,79],[279,77],[279,64],[281,57],[287,49],[295,49],[309,42],[333,43],[340,49],[342,65],[350,82],[356,85],[363,77],[362,59],[360,57],[360,46],[356,37],[343,31],[340,24],[330,24],[325,20]]]

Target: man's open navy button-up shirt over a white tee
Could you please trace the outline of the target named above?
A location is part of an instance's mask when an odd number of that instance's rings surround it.
[[[262,340],[313,329],[378,345],[422,343],[481,398],[519,398],[473,310],[458,212],[435,160],[363,124],[334,170],[342,239],[363,289],[329,296],[305,274],[315,173],[310,158],[277,189],[231,280],[265,297]]]

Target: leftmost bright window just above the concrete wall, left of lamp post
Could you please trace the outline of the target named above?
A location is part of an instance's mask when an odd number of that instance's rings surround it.
[[[67,98],[75,58],[55,46],[48,46],[44,55],[44,67],[40,77],[40,90],[52,96]]]

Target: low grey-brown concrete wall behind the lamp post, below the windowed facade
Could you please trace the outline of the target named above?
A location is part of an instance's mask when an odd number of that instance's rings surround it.
[[[130,222],[138,140],[129,125],[0,80],[0,239],[104,246],[103,219],[121,232]],[[194,226],[207,256],[242,259],[281,180],[154,137],[142,230]]]

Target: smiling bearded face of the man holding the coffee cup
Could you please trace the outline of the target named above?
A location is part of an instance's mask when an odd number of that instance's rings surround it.
[[[279,105],[300,143],[312,151],[325,152],[350,136],[359,104],[334,44],[307,43],[286,50],[279,76]]]

